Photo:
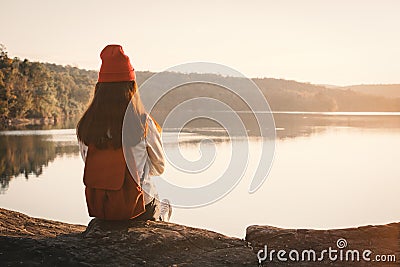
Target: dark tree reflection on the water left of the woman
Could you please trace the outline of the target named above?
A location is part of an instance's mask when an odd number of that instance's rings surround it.
[[[0,134],[0,193],[7,190],[14,177],[39,177],[43,168],[56,157],[78,154],[76,141],[65,134],[42,133],[18,131]]]

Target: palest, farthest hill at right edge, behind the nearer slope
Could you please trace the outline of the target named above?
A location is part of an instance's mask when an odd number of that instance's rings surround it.
[[[338,89],[388,98],[400,97],[400,84],[361,84],[338,87]]]

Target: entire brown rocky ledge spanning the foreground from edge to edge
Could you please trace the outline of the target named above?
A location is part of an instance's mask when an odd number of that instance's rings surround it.
[[[326,254],[319,261],[318,253],[330,247],[338,258],[330,260]],[[315,260],[308,255],[311,249]],[[371,261],[340,260],[340,250],[346,255],[350,249],[371,250]],[[285,251],[280,258],[286,261],[277,257],[279,250]],[[302,251],[308,251],[305,259]],[[242,240],[166,222],[94,219],[86,227],[0,208],[2,266],[257,266],[257,253],[264,266],[400,266],[400,223],[336,230],[254,225]],[[376,255],[394,255],[396,261],[377,262]]]

